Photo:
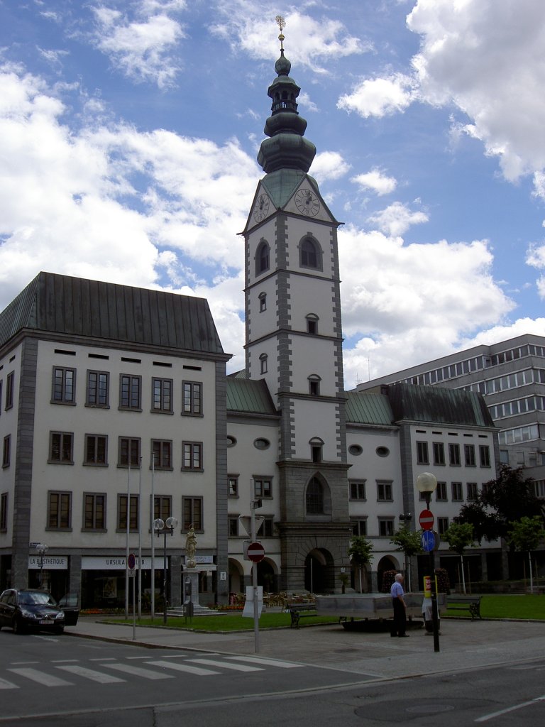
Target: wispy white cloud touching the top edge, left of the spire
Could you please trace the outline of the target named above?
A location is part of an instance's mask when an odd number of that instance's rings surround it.
[[[112,65],[132,81],[171,87],[179,71],[172,54],[184,31],[168,14],[184,7],[182,0],[141,0],[134,19],[103,5],[92,7],[97,20],[94,47],[108,55]]]

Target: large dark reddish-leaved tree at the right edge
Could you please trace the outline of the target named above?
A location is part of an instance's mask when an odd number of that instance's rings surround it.
[[[522,469],[501,465],[496,480],[486,483],[474,502],[468,502],[454,518],[456,523],[471,523],[475,539],[506,538],[512,523],[520,518],[543,517],[543,506],[533,491],[533,481],[522,477]]]

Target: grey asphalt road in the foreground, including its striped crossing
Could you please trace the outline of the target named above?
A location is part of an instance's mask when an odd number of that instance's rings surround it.
[[[14,727],[545,723],[545,656],[435,676],[0,632],[0,722]],[[210,673],[212,672],[212,673]]]

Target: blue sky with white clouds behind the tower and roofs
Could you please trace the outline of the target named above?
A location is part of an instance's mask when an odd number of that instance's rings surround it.
[[[0,308],[40,270],[196,294],[243,366],[278,14],[347,387],[545,335],[542,0],[0,0]]]

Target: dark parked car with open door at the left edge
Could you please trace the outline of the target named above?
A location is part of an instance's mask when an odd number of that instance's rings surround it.
[[[9,588],[0,595],[0,629],[9,626],[17,633],[29,628],[62,633],[65,626],[78,622],[79,608],[77,595],[61,600],[66,606],[57,603],[48,591]]]

